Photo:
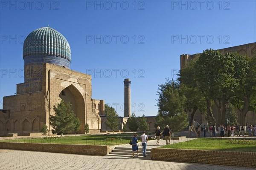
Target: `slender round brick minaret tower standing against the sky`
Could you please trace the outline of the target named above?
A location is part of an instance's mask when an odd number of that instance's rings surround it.
[[[125,117],[131,116],[131,81],[129,78],[125,78]]]

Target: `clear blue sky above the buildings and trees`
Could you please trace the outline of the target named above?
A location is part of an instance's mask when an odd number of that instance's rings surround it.
[[[1,107],[24,82],[24,37],[47,24],[67,38],[71,69],[92,74],[93,98],[116,104],[123,116],[130,78],[131,109],[150,116],[157,115],[158,84],[177,78],[181,54],[256,42],[256,1],[1,0]]]

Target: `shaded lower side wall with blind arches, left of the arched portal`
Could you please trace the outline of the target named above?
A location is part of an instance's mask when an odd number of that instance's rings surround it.
[[[4,97],[3,110],[0,112],[0,135],[40,132],[46,121],[43,100],[42,91]]]

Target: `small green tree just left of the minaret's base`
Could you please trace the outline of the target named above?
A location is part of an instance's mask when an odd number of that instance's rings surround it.
[[[106,112],[106,110],[105,110]],[[111,130],[114,130],[119,126],[118,122],[118,114],[116,113],[116,110],[113,107],[110,107],[109,111],[107,112],[107,120],[106,120],[106,125],[110,127]]]

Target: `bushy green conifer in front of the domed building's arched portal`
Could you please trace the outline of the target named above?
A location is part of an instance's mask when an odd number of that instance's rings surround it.
[[[60,134],[70,133],[75,129],[76,115],[72,111],[72,104],[69,102],[65,104],[63,100],[56,106],[53,106],[55,115],[50,115],[50,125],[52,126],[52,133]]]

